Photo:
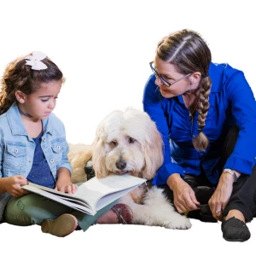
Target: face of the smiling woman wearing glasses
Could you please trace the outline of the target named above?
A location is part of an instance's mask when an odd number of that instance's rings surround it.
[[[155,84],[159,86],[160,93],[165,98],[172,98],[173,96],[182,95],[188,90],[195,89],[195,85],[193,85],[193,88],[191,87],[190,74],[177,73],[173,64],[162,61],[159,57],[155,57],[154,69],[159,74],[159,76],[155,76]],[[172,85],[167,87],[163,79]]]

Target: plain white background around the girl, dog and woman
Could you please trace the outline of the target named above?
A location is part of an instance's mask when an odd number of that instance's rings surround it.
[[[1,1],[0,71],[19,55],[41,50],[61,68],[66,84],[55,113],[70,143],[91,143],[96,125],[113,109],[143,109],[148,62],[160,38],[189,28],[201,33],[213,62],[241,69],[255,94],[256,18],[253,1]],[[256,146],[256,145],[255,145]],[[0,225],[0,253],[11,255],[241,255],[245,243],[224,241],[220,224],[192,220],[190,230],[96,225],[66,238],[39,226]],[[253,253],[252,252],[252,253]]]

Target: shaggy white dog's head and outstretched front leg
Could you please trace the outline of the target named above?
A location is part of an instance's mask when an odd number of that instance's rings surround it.
[[[133,108],[114,111],[98,125],[92,147],[96,177],[106,177],[109,172],[129,172],[151,180],[162,163],[162,139],[147,113]],[[175,211],[162,189],[149,187],[147,190],[143,184],[120,199],[131,207],[132,223],[189,229],[189,218]]]

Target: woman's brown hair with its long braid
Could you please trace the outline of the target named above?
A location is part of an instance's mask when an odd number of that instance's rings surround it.
[[[193,139],[195,149],[205,151],[209,141],[203,133],[206,125],[208,101],[212,80],[208,69],[212,61],[211,51],[198,32],[183,29],[160,40],[156,55],[163,61],[173,64],[178,73],[201,73],[200,95],[196,110],[198,111],[198,135]]]

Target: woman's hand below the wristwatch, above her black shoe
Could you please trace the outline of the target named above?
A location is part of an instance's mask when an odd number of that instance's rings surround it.
[[[230,173],[222,173],[219,178],[218,186],[209,200],[209,207],[211,208],[214,218],[222,221],[222,211],[230,200],[230,195],[233,191],[234,179]]]

